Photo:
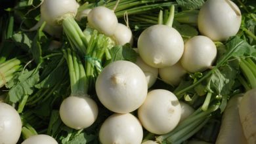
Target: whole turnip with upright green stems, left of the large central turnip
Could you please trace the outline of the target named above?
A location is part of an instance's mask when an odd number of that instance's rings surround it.
[[[71,95],[60,105],[60,118],[70,128],[80,130],[95,122],[98,106],[87,95],[88,81],[81,60],[70,49],[64,51],[70,72]]]

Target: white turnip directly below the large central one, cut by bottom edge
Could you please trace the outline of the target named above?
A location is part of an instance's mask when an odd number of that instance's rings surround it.
[[[143,138],[143,130],[139,120],[127,114],[113,114],[108,117],[99,132],[102,144],[140,144]]]

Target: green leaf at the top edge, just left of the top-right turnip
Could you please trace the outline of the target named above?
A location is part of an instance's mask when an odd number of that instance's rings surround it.
[[[178,7],[183,10],[200,9],[204,3],[203,0],[176,0]]]

